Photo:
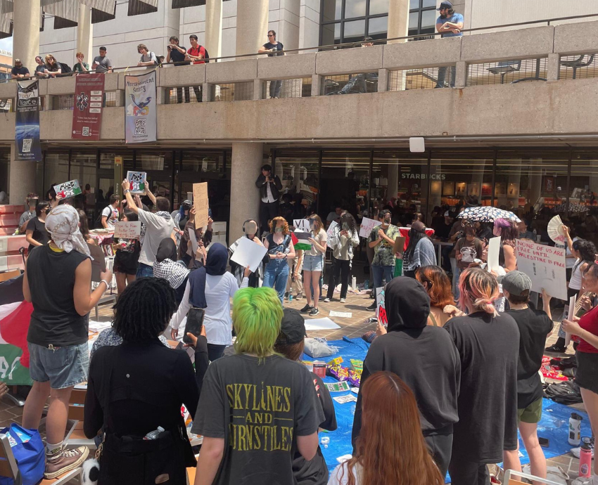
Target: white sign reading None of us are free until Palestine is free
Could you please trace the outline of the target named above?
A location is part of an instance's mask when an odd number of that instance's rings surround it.
[[[517,240],[517,269],[532,280],[532,289],[542,288],[553,298],[567,299],[565,250]]]

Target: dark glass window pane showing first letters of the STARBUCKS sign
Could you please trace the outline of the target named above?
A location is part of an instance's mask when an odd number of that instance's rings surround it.
[[[374,152],[369,193],[372,216],[392,201],[393,224],[406,226],[414,212],[425,216],[427,194],[427,156],[395,150]]]

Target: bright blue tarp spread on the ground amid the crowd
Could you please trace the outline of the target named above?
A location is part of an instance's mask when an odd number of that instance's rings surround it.
[[[363,361],[369,349],[369,344],[364,342],[362,339],[349,339],[344,337],[343,340],[332,340],[329,344],[338,347],[338,353],[333,356],[314,359],[310,356],[303,355],[303,360],[314,361],[314,360],[326,360],[331,361],[333,358],[338,356],[343,357],[345,363],[344,366],[350,366],[350,359],[355,358]],[[326,376],[324,382],[337,382],[333,377]],[[333,392],[333,397],[343,396],[351,394],[351,392]],[[330,437],[330,444],[328,448],[320,445],[324,458],[326,459],[326,465],[330,472],[338,465],[336,458],[342,455],[350,455],[352,453],[351,445],[351,429],[353,425],[353,415],[355,415],[355,403],[339,404],[334,401],[334,409],[336,410],[336,422],[338,429],[333,432],[322,432],[319,434],[320,439],[327,436]],[[592,432],[590,429],[590,420],[587,418],[587,414],[582,411],[575,410],[569,406],[555,403],[550,399],[544,399],[542,406],[542,420],[538,423],[538,436],[549,439],[549,447],[543,448],[546,458],[554,458],[555,456],[564,455],[571,449],[571,445],[568,444],[568,422],[571,413],[578,413],[583,417],[581,424],[582,436],[591,436]],[[521,463],[529,463],[529,458],[525,448],[523,448],[523,441],[521,439]],[[447,480],[448,481],[448,480]]]

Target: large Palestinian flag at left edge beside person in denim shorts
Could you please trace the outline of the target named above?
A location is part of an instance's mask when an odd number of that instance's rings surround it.
[[[27,349],[32,311],[23,300],[23,275],[0,283],[0,380],[9,386],[32,384]]]

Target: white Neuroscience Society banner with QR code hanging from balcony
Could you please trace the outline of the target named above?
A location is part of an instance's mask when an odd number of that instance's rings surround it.
[[[125,76],[125,143],[155,141],[155,70]]]

